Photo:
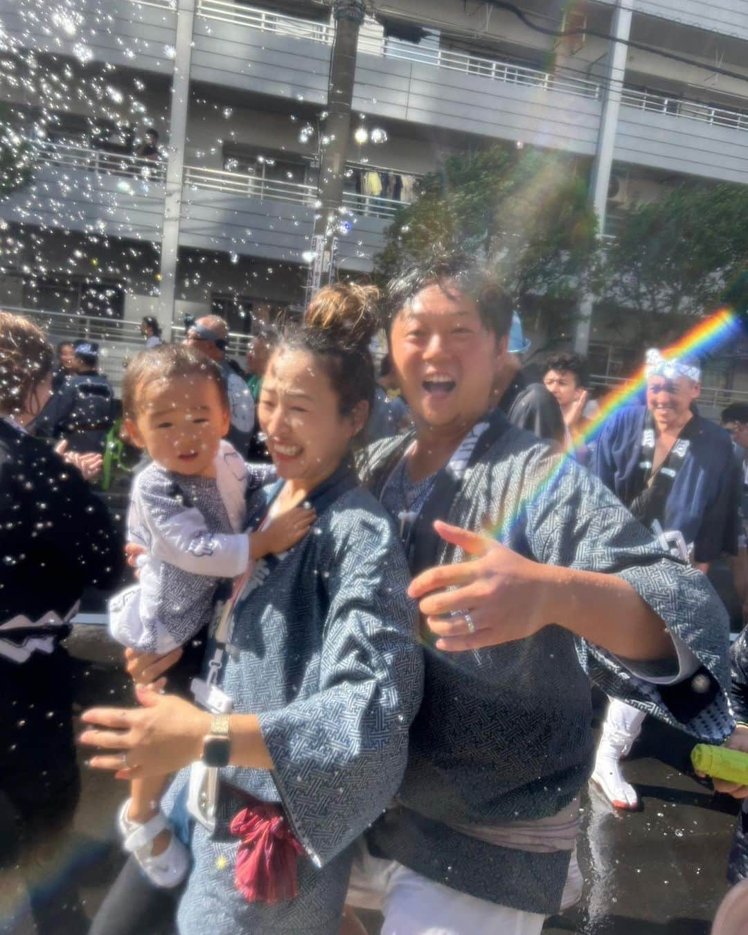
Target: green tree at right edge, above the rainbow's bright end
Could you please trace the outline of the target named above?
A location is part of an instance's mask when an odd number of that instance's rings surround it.
[[[746,212],[748,185],[694,182],[631,209],[606,247],[596,307],[627,343],[677,338],[694,316],[745,292]]]

